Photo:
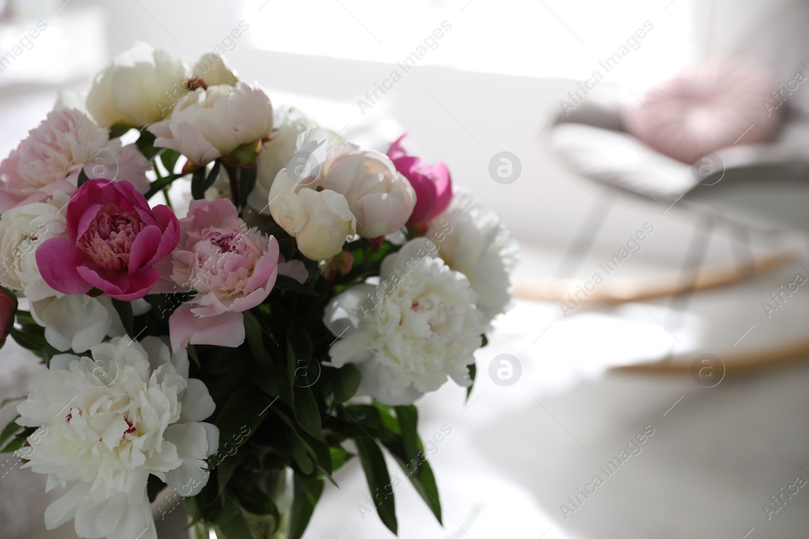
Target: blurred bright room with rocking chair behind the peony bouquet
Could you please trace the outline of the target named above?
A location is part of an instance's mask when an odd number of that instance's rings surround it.
[[[522,254],[472,394],[419,406],[443,527],[403,483],[400,537],[807,537],[807,23],[803,0],[0,0],[0,155],[138,41],[223,51],[349,141],[407,132]],[[2,356],[5,398],[34,365]],[[72,539],[33,475],[0,478],[0,535]],[[305,537],[390,537],[358,462],[336,479]]]

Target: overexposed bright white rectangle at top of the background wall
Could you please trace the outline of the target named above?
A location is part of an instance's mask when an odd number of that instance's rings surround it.
[[[606,75],[599,61],[621,52],[608,76],[629,86],[666,78],[696,52],[692,0],[256,0],[244,6],[248,15],[257,48],[363,61],[394,63],[416,52],[419,65],[585,79],[596,69]],[[638,32],[644,23],[653,29]]]

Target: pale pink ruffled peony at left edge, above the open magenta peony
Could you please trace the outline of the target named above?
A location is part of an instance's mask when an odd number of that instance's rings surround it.
[[[121,147],[83,112],[60,109],[49,112],[0,163],[0,212],[40,202],[55,190],[73,194],[83,168],[88,178],[126,180],[138,192],[149,190],[151,166],[137,146]]]

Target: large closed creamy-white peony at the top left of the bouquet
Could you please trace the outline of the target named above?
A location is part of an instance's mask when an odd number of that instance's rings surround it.
[[[172,104],[188,90],[186,74],[188,66],[174,53],[137,44],[95,76],[87,110],[104,128],[153,124],[171,114]]]

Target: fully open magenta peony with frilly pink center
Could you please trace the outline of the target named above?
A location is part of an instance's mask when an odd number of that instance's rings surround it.
[[[87,181],[70,199],[66,214],[69,237],[51,238],[36,250],[42,278],[63,294],[99,288],[119,300],[144,297],[160,278],[152,266],[180,238],[171,208],[149,208],[125,181]]]

